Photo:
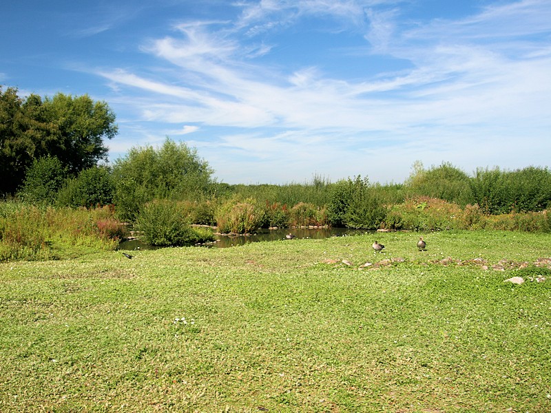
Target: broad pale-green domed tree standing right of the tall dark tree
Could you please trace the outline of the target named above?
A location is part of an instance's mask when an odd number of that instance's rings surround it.
[[[213,189],[213,170],[196,149],[166,138],[162,147],[134,147],[114,162],[115,204],[120,218],[134,220],[155,198],[197,200]]]

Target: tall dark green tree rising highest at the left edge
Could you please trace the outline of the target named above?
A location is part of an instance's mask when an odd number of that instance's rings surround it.
[[[103,139],[117,132],[115,115],[90,96],[17,96],[0,87],[0,193],[14,193],[34,160],[58,158],[76,176],[107,156]]]

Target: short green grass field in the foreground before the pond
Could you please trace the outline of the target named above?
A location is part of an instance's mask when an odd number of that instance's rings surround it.
[[[551,411],[551,235],[421,235],[0,264],[0,412]]]

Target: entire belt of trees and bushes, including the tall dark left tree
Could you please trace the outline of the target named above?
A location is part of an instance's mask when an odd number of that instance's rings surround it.
[[[107,104],[88,96],[22,99],[17,89],[0,88],[0,193],[37,207],[110,205],[118,220],[149,226],[150,233],[163,222],[236,233],[293,225],[548,231],[547,167],[479,168],[469,175],[448,162],[428,169],[415,162],[403,183],[358,175],[337,182],[314,176],[304,183],[231,185],[213,177],[196,149],[169,138],[101,165],[103,139],[116,131]],[[516,218],[507,224],[491,218],[506,215]],[[528,224],[534,220],[539,224]]]

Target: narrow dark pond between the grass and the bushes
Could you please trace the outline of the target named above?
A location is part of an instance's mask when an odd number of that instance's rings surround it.
[[[350,235],[362,235],[365,233],[373,233],[375,231],[367,231],[365,229],[349,229],[349,228],[286,228],[286,229],[263,229],[253,235],[215,235],[216,242],[205,244],[207,248],[227,248],[230,246],[240,246],[249,242],[261,241],[278,241],[287,240],[285,235],[291,233],[295,235],[295,239],[321,239],[329,237],[345,237]],[[291,240],[292,241],[292,240]],[[158,246],[147,245],[140,240],[123,241],[118,246],[121,250],[136,251],[145,249],[161,248]]]

